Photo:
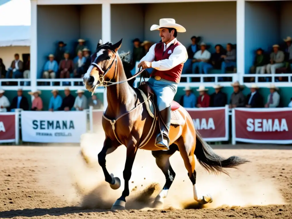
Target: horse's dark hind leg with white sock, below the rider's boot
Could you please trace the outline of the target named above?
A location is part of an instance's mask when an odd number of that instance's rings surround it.
[[[167,193],[169,188],[171,187],[171,184],[175,178],[175,172],[173,171],[169,158],[171,155],[175,153],[175,151],[178,150],[178,146],[175,144],[170,145],[168,151],[152,151],[152,155],[156,158],[156,164],[157,166],[162,170],[163,174],[165,175],[165,185],[161,192],[157,195],[155,201],[154,201],[154,207],[159,207],[163,205],[163,199],[167,197]]]

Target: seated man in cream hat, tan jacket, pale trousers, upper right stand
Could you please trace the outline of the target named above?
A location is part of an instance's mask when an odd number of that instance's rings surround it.
[[[263,69],[263,73],[265,73],[266,70],[267,74],[275,74],[277,68],[281,68],[285,65],[285,55],[283,51],[279,50],[279,47],[280,46],[277,44],[273,45],[274,52],[270,55],[270,63],[264,66],[265,69]]]

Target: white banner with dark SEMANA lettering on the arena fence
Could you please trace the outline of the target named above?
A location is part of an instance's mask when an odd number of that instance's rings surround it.
[[[86,133],[86,111],[22,111],[22,141],[79,143]]]

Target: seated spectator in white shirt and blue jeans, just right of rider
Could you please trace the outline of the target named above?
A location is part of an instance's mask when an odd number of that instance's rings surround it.
[[[201,50],[197,51],[193,57],[192,64],[192,74],[196,73],[196,69],[199,68],[199,74],[207,74],[207,67],[209,59],[211,58],[211,53],[206,50],[206,44],[201,43]]]

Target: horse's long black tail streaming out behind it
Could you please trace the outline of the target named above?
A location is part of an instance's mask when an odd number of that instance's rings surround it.
[[[227,159],[215,154],[210,145],[207,144],[196,130],[196,148],[195,155],[199,163],[208,172],[218,173],[222,172],[228,175],[223,168],[237,168],[237,166],[249,162],[246,159],[232,156]]]

